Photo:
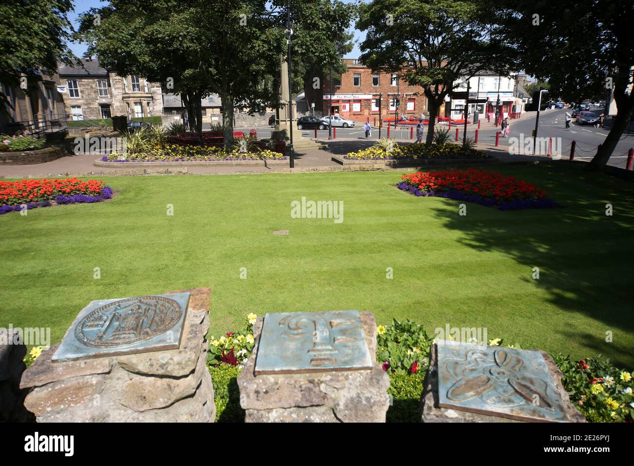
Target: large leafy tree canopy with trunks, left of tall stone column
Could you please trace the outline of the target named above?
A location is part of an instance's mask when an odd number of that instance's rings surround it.
[[[236,104],[250,112],[278,105],[264,81],[279,67],[283,30],[269,13],[264,0],[111,0],[84,15],[80,37],[89,42],[87,55],[117,74],[138,74],[181,93],[198,132],[200,99],[217,93],[230,146]],[[90,21],[94,15],[99,24]]]

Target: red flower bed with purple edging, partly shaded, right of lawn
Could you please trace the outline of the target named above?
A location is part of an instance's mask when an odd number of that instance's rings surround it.
[[[445,197],[476,202],[501,210],[557,207],[546,191],[531,183],[499,173],[467,169],[415,172],[403,175],[399,190],[415,196]]]

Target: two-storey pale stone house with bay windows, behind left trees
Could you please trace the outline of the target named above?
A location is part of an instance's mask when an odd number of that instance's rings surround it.
[[[113,115],[151,117],[162,115],[161,86],[136,75],[121,77],[83,60],[84,66],[60,63],[58,90],[63,94],[66,113],[73,120],[110,118]]]

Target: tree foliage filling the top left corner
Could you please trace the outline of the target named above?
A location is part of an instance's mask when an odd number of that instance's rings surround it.
[[[41,79],[41,69],[55,72],[58,61],[75,58],[68,49],[72,26],[70,0],[10,0],[0,3],[0,82],[19,86],[20,77]],[[30,87],[30,86],[29,86]],[[27,87],[27,92],[29,87]],[[0,113],[6,115],[7,97],[0,89]]]

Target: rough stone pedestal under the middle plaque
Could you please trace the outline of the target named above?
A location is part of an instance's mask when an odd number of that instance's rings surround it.
[[[372,356],[370,370],[254,375],[263,318],[253,327],[256,345],[238,376],[246,422],[385,422],[389,376],[377,365],[377,326],[362,312],[361,325]]]

